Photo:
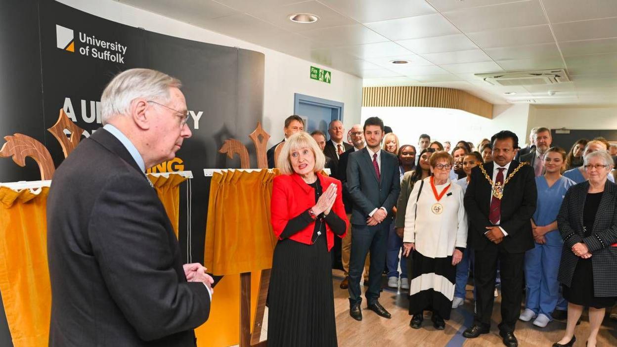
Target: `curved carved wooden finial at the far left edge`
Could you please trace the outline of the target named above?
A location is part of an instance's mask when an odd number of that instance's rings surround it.
[[[4,140],[6,143],[0,149],[0,157],[12,156],[15,164],[21,167],[26,165],[26,157],[31,157],[38,164],[41,180],[51,180],[56,168],[49,151],[42,143],[20,133],[4,136]]]

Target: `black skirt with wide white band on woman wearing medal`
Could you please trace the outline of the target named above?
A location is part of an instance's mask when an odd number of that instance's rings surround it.
[[[457,267],[452,265],[452,256],[432,258],[413,251],[409,314],[420,314],[427,310],[443,319],[450,319],[456,274]]]

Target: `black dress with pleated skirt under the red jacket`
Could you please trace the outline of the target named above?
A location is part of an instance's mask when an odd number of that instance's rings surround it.
[[[310,186],[317,201],[321,195],[319,180]],[[325,224],[342,235],[345,221],[334,212],[326,217],[321,214],[315,221],[312,245],[289,239],[312,222],[308,210],[297,215],[289,220],[281,233],[283,240],[276,244],[268,292],[269,347],[337,346],[332,259]]]

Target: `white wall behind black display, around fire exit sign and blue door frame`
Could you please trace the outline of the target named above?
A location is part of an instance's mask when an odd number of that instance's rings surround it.
[[[271,135],[270,144],[278,143],[283,138],[283,121],[294,112],[294,93],[343,102],[345,104],[343,120],[346,128],[350,128],[360,120],[362,79],[354,75],[327,67],[326,69],[333,72],[333,78],[330,84],[323,83],[309,78],[310,66],[320,67],[317,64],[120,2],[112,0],[59,0],[59,2],[131,27],[141,27],[188,40],[262,52],[265,55],[263,128]]]

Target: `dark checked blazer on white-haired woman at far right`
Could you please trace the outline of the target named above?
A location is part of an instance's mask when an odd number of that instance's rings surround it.
[[[582,242],[592,253],[594,269],[594,295],[617,296],[617,185],[607,180],[604,194],[595,215],[591,236],[584,237],[583,209],[589,190],[589,182],[571,186],[566,193],[557,216],[557,224],[563,238],[561,264],[558,280],[571,286],[574,269],[579,257],[572,252],[575,243]]]

